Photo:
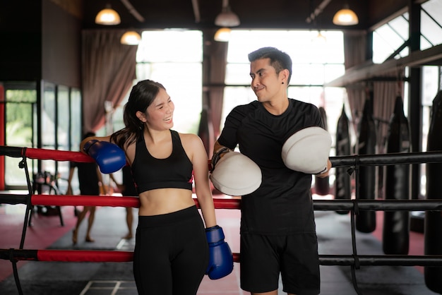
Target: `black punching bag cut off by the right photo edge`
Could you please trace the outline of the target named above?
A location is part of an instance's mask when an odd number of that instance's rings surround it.
[[[442,90],[433,100],[430,115],[430,128],[427,151],[442,150]],[[442,163],[426,164],[426,198],[442,199]],[[442,255],[442,215],[441,211],[425,212],[424,252],[425,255]],[[442,267],[424,267],[426,287],[442,294]]]

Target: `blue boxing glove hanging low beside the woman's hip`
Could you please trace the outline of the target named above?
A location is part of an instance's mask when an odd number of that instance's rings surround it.
[[[209,265],[205,274],[210,279],[221,279],[233,270],[233,255],[229,244],[224,241],[222,228],[215,225],[205,229],[209,244]]]

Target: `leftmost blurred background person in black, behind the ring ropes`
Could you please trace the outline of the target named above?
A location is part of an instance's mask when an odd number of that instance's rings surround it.
[[[95,133],[88,132],[83,136],[88,138],[90,136],[95,136]],[[68,188],[66,189],[66,195],[72,195],[71,181],[73,178],[73,173],[77,168],[78,172],[78,185],[80,186],[80,195],[100,195],[100,183],[102,183],[102,174],[94,162],[70,162],[69,176],[68,176]],[[102,186],[105,190],[106,188]],[[106,193],[106,192],[104,192]],[[92,225],[95,220],[95,206],[83,206],[83,210],[78,212],[76,227],[72,232],[72,243],[76,245],[78,241],[78,229],[80,228],[81,222],[85,219],[86,215],[89,213],[88,217],[88,227],[86,229],[86,242],[95,241],[92,239],[90,232],[92,231]]]

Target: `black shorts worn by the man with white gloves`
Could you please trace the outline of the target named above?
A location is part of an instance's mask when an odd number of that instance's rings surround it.
[[[318,240],[316,234],[265,236],[241,234],[241,289],[291,294],[320,293]]]

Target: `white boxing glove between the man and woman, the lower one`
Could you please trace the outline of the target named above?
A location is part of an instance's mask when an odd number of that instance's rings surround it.
[[[225,148],[213,155],[210,181],[226,195],[248,195],[261,186],[261,168],[240,152],[226,152]],[[225,155],[220,157],[222,153]]]

